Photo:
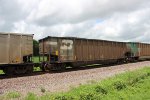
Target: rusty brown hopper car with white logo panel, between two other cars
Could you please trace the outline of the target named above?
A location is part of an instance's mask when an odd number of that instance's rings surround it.
[[[42,55],[43,70],[58,70],[66,66],[109,64],[138,59],[131,44],[134,43],[48,36],[39,40],[39,54]]]

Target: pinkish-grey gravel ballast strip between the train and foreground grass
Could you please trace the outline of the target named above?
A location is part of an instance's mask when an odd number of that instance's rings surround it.
[[[47,92],[67,91],[72,87],[99,81],[126,71],[132,71],[143,67],[150,67],[150,61],[90,68],[62,73],[45,73],[35,76],[24,76],[0,79],[0,95],[16,91],[21,94],[33,92],[41,95],[41,89]]]

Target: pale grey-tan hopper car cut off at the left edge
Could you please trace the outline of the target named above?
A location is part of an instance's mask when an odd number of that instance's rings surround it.
[[[20,74],[33,71],[33,35],[0,33],[0,69]]]

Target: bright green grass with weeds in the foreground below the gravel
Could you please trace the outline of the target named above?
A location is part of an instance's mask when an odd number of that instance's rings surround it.
[[[28,93],[25,100],[149,100],[150,67],[116,75],[100,82],[89,82],[68,92],[47,93],[42,96]],[[60,83],[61,84],[61,83]],[[14,99],[15,96],[9,96]],[[20,96],[17,96],[17,98]],[[3,98],[3,97],[2,97]]]

